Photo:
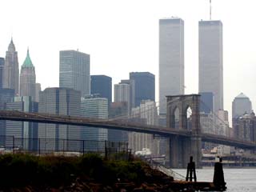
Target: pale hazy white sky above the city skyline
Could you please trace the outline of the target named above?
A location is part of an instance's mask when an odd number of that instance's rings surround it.
[[[90,54],[90,74],[106,74],[113,84],[132,71],[156,76],[158,99],[158,19],[185,22],[186,94],[198,93],[198,21],[209,19],[209,0],[2,0],[0,57],[11,34],[21,66],[27,46],[42,88],[58,86],[59,50]],[[224,106],[240,92],[256,106],[256,1],[212,0],[212,18],[223,23]]]

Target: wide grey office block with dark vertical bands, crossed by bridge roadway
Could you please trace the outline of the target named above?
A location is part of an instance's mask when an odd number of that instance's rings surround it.
[[[39,113],[58,115],[80,115],[80,92],[68,88],[46,88],[40,92]],[[80,142],[66,142],[60,139],[80,139],[80,127],[69,125],[38,125],[38,138],[52,139],[41,143],[40,150],[80,150]]]

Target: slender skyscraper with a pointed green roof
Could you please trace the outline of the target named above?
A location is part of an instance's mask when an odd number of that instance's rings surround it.
[[[30,59],[30,52],[27,50],[26,59],[22,64],[20,74],[20,96],[31,96],[35,101],[35,71]]]

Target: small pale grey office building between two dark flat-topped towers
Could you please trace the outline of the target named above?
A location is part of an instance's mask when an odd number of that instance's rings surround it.
[[[127,112],[130,114],[130,84],[119,82],[114,85],[114,102],[127,102]]]

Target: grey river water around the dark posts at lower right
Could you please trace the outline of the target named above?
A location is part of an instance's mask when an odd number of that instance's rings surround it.
[[[186,170],[174,170],[178,174],[186,176]],[[196,170],[198,182],[212,182],[214,167]],[[227,192],[255,192],[256,191],[256,168],[230,169],[224,168],[224,178]]]

